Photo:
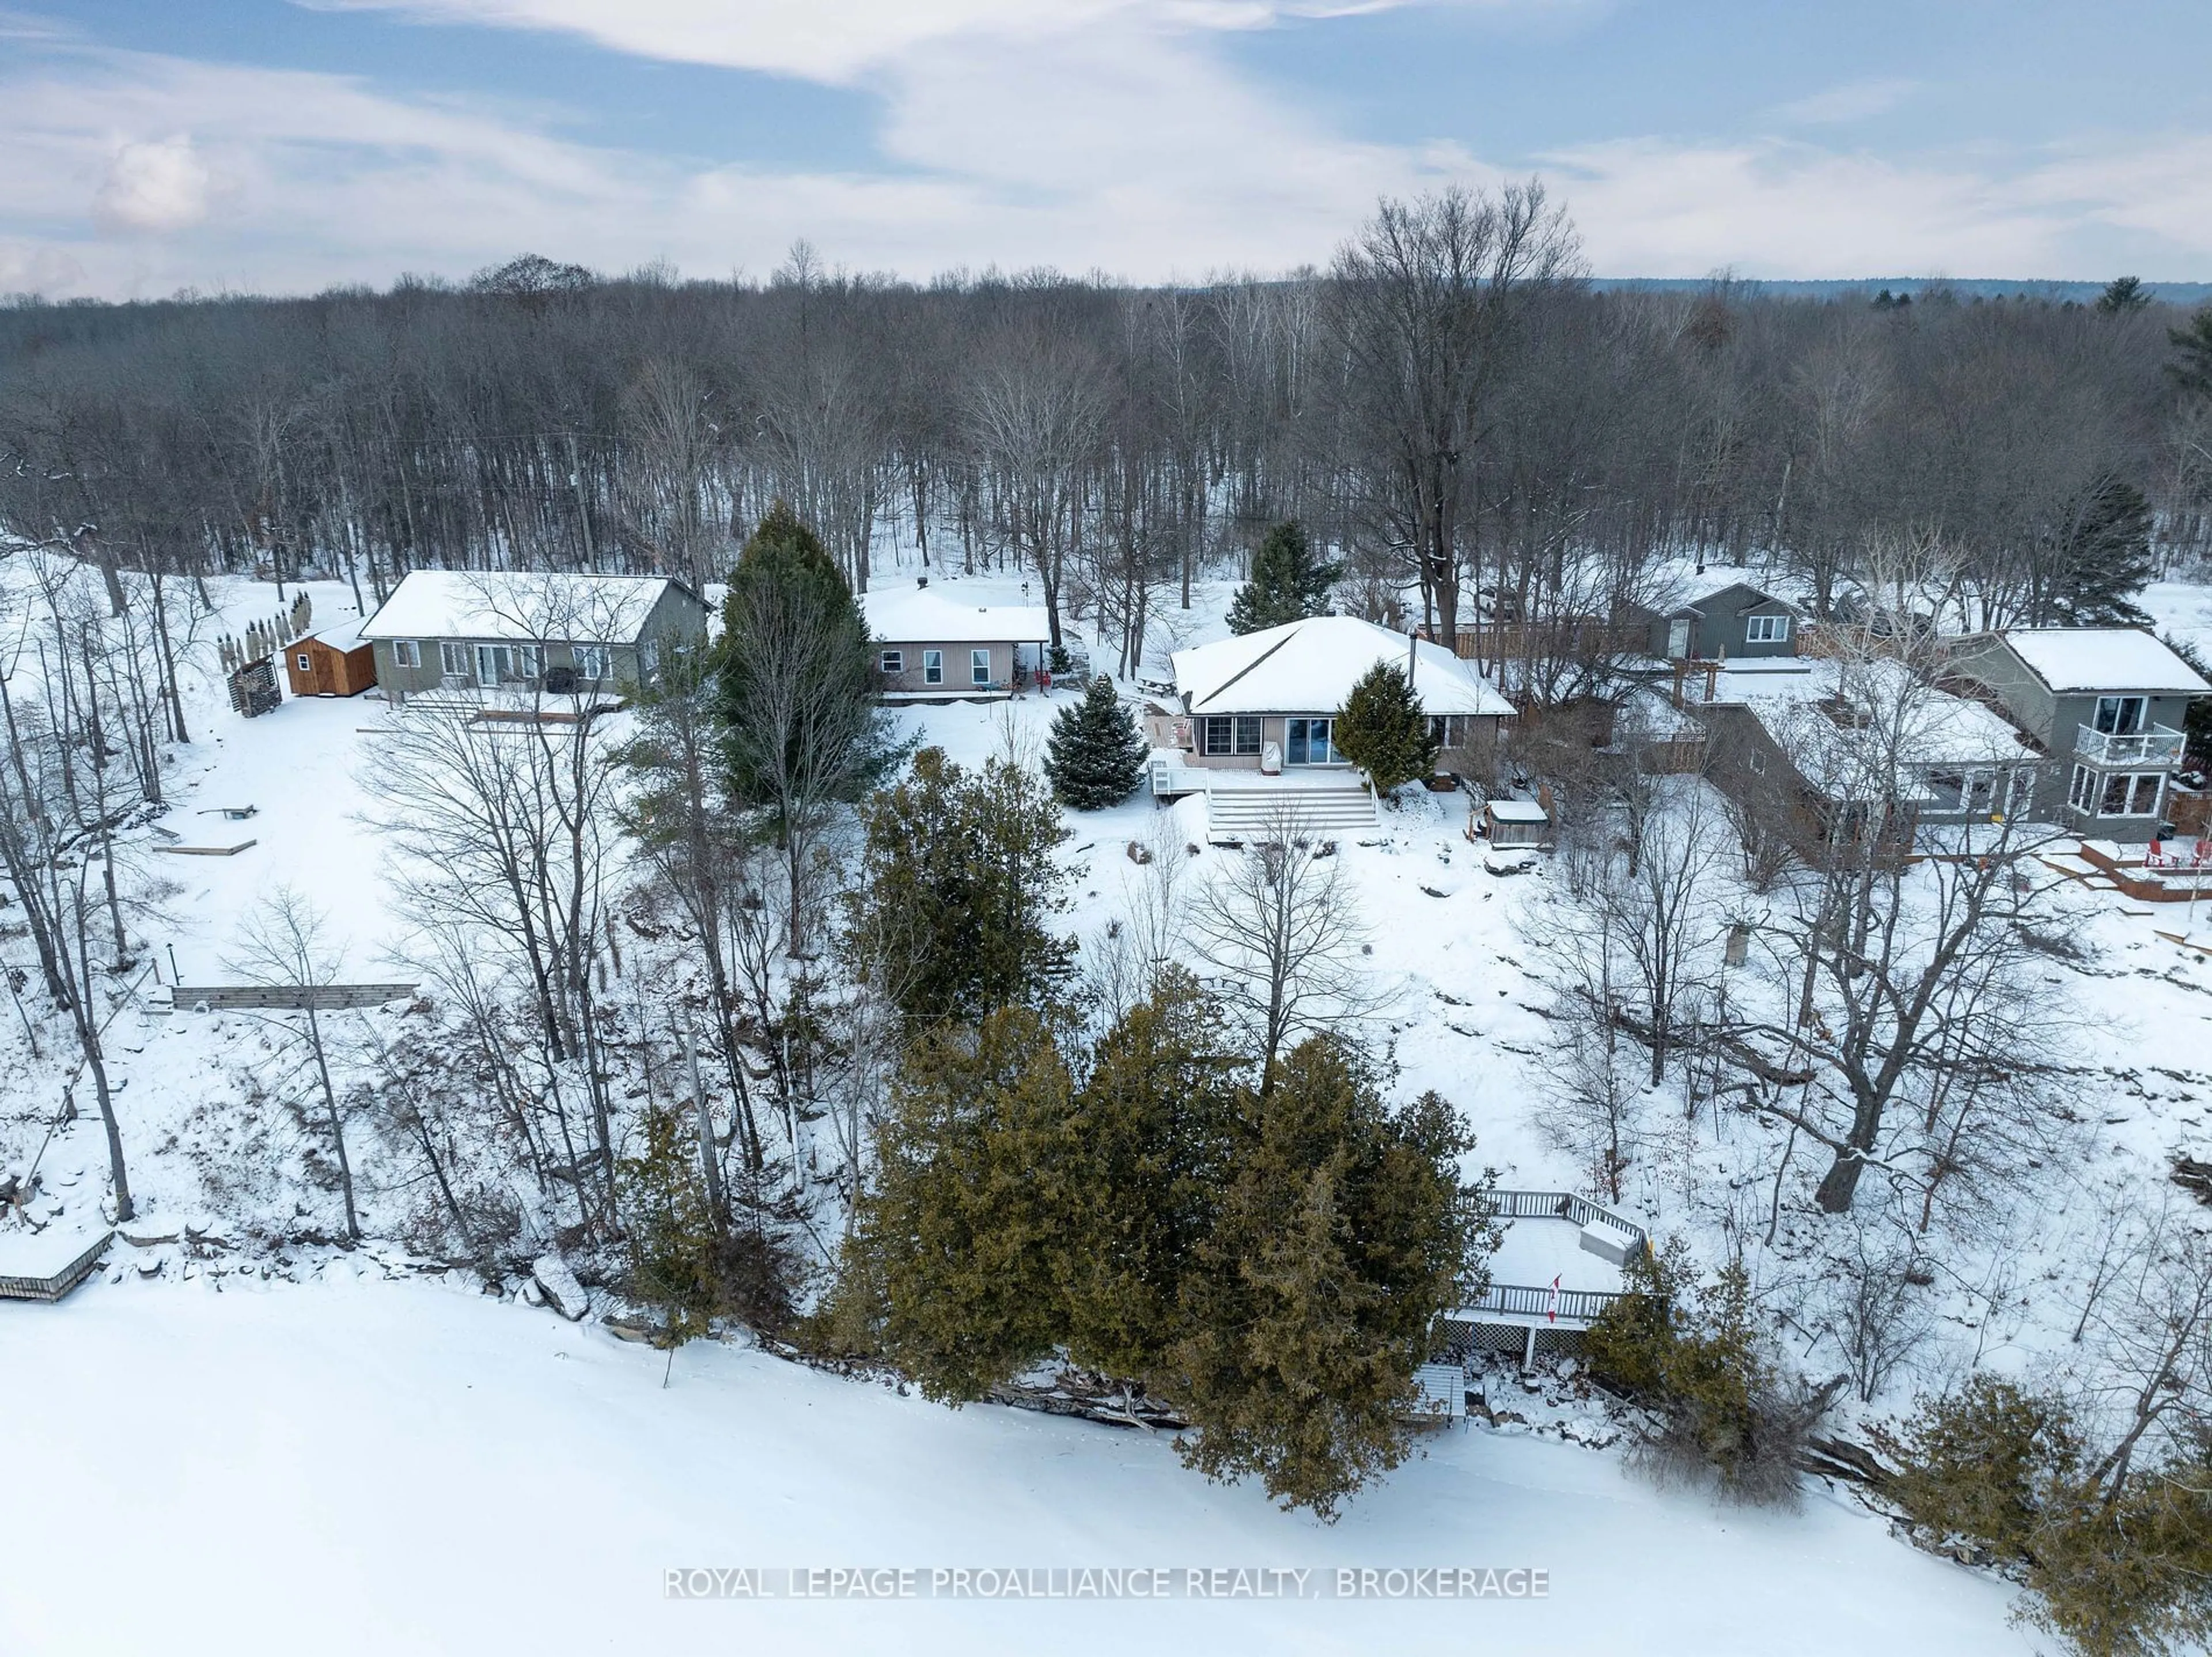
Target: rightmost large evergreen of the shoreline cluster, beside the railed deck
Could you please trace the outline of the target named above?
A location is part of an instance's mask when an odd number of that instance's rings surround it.
[[[1327,1520],[1405,1460],[1413,1369],[1436,1316],[1480,1294],[1491,1232],[1451,1108],[1389,1113],[1343,1042],[1303,1042],[1241,1106],[1166,1392],[1197,1427],[1186,1462]]]

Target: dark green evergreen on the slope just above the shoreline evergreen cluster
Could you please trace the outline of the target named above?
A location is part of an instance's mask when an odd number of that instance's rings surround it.
[[[1068,907],[1053,858],[1066,830],[1040,777],[1009,759],[969,772],[925,748],[860,821],[845,936],[909,1029],[1060,1000],[1075,949],[1051,929]]]

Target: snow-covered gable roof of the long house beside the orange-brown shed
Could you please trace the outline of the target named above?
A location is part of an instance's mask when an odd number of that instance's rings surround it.
[[[670,586],[666,575],[418,569],[361,637],[633,644]]]

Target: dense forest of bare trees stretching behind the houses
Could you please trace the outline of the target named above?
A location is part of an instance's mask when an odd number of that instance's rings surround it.
[[[1843,602],[1863,549],[1951,553],[1971,624],[2070,619],[2130,513],[2212,551],[2188,323],[2110,305],[1599,288],[1540,186],[1385,204],[1323,272],[765,285],[524,257],[451,288],[0,310],[0,524],[104,569],[416,566],[719,580],[770,500],[856,588],[1020,569],[1124,668],[1208,564],[1298,518],[1345,595],[1478,650],[1606,615],[1659,555]],[[1513,639],[1509,644],[1506,639]],[[1155,639],[1157,642],[1157,639]],[[1515,675],[1535,695],[1544,664]]]

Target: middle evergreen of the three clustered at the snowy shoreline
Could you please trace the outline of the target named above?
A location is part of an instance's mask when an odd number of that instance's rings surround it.
[[[1230,1181],[1243,1062],[1221,1038],[1221,1007],[1168,967],[1099,1038],[1075,1100],[1066,1341],[1110,1376],[1157,1380],[1181,1334],[1181,1283]]]

